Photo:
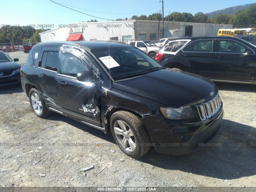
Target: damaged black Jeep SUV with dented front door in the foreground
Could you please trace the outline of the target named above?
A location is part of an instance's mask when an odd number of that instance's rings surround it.
[[[21,79],[38,117],[57,112],[111,132],[133,158],[150,146],[168,154],[194,152],[222,125],[222,102],[213,82],[167,70],[125,43],[37,44]]]

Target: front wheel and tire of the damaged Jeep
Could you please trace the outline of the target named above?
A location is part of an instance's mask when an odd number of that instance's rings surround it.
[[[150,149],[150,137],[138,116],[117,111],[110,118],[110,128],[119,148],[132,158],[140,158]]]

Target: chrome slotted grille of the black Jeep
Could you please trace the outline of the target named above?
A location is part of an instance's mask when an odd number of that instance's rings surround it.
[[[202,121],[214,116],[220,110],[221,107],[221,100],[220,94],[218,93],[212,100],[201,104],[197,107],[199,116]]]

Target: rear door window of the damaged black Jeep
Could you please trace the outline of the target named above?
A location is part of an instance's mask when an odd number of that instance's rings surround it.
[[[45,51],[42,57],[42,68],[57,72],[58,52]]]

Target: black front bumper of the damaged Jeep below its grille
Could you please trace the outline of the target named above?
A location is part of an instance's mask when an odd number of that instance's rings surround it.
[[[222,108],[216,116],[204,122],[172,122],[159,116],[146,116],[142,122],[157,152],[182,155],[196,152],[213,140],[221,130],[223,115]],[[185,141],[177,141],[177,134],[184,134]]]

